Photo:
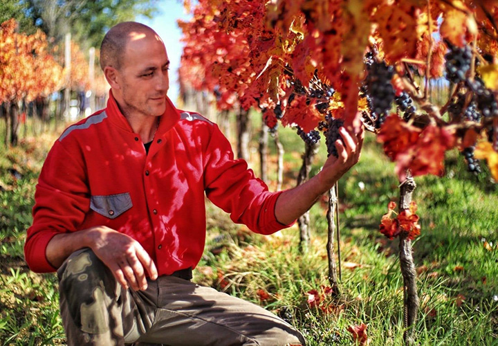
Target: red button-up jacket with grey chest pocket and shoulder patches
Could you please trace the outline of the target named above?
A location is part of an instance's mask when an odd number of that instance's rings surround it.
[[[159,275],[194,268],[205,244],[204,194],[257,233],[290,226],[275,219],[279,192],[234,160],[213,122],[167,104],[148,155],[112,93],[106,109],[64,131],[39,176],[24,246],[31,270],[55,271],[45,255],[54,235],[101,225],[140,242]]]

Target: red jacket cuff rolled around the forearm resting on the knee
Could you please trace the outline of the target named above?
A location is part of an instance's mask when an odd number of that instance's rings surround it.
[[[24,246],[24,257],[31,271],[35,273],[52,273],[57,268],[52,266],[46,258],[46,248],[50,240],[57,234],[57,230],[44,230],[33,235]]]

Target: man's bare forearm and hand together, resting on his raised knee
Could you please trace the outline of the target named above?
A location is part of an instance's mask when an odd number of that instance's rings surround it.
[[[140,243],[107,226],[55,235],[48,242],[46,257],[58,268],[71,253],[86,247],[92,249],[124,289],[147,289],[146,271],[152,280],[158,276],[156,264]]]

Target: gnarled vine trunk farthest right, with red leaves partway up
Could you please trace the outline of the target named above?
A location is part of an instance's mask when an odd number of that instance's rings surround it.
[[[412,176],[400,185],[399,212],[409,208],[412,202],[412,192],[416,184]],[[403,275],[403,320],[405,332],[403,340],[405,345],[414,345],[415,343],[415,325],[418,313],[418,294],[416,289],[416,271],[412,256],[412,241],[407,239],[407,233],[400,234],[400,266]]]

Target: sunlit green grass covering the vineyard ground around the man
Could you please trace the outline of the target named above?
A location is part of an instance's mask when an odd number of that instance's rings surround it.
[[[284,187],[294,185],[303,148],[292,132],[280,130],[287,151]],[[28,137],[14,149],[0,148],[0,345],[64,344],[55,275],[30,273],[22,255],[37,175],[53,140]],[[321,151],[312,173],[324,157]],[[457,152],[448,154],[447,167],[442,179],[416,179],[422,225],[414,242],[418,344],[498,345],[498,186],[465,172]],[[368,325],[370,345],[400,345],[398,242],[378,232],[387,203],[398,199],[397,186],[393,164],[369,136],[360,163],[340,181],[340,298],[323,292],[328,281],[322,201],[311,210],[313,240],[306,254],[297,250],[295,226],[255,235],[209,204],[208,243],[194,280],[274,311],[300,329],[309,345],[354,345],[347,327],[361,322]],[[323,295],[321,308],[307,302],[312,289]]]

